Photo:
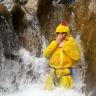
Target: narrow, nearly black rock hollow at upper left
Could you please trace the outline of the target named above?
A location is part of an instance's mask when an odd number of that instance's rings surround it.
[[[16,4],[12,8],[11,14],[12,14],[12,19],[13,19],[14,29],[19,37],[19,40],[21,40],[22,37],[20,36],[20,34],[23,33],[24,27],[25,27],[24,20],[23,20],[25,13],[21,9],[21,6]]]

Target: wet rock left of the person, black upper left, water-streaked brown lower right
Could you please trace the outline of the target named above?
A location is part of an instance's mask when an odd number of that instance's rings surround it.
[[[22,10],[23,9],[23,10]],[[30,14],[25,7],[18,4],[11,10],[14,29],[20,44],[36,56],[41,55],[41,34],[36,14]],[[28,18],[28,17],[29,18]],[[29,31],[30,30],[30,31]]]

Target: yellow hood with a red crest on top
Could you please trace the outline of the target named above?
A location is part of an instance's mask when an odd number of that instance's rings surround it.
[[[70,29],[67,26],[67,24],[65,22],[61,23],[57,28],[56,28],[56,33],[57,32],[67,32],[67,37],[70,37]]]

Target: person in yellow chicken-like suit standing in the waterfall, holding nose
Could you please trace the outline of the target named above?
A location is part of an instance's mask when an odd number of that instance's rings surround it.
[[[80,59],[80,51],[65,22],[56,28],[56,40],[49,44],[43,55],[49,59],[50,66],[44,89],[72,88],[72,69]]]

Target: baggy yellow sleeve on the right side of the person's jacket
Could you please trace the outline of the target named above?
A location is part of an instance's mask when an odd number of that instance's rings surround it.
[[[74,38],[70,37],[68,41],[65,41],[63,50],[72,60],[80,59],[80,50]]]

